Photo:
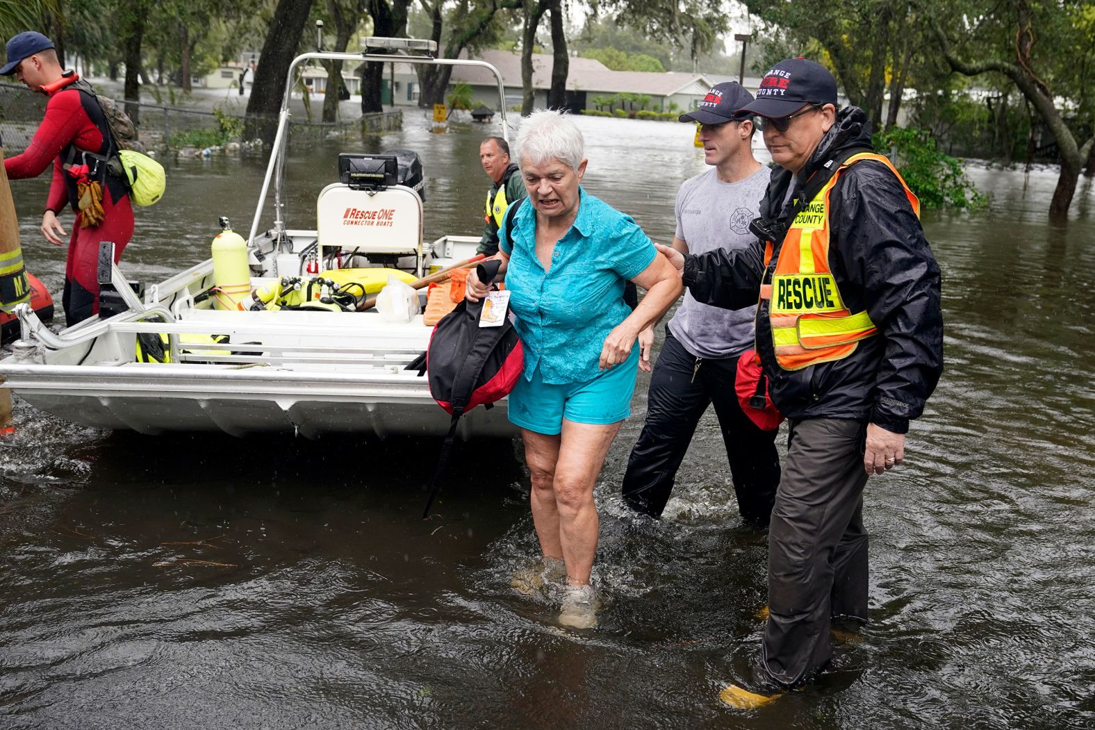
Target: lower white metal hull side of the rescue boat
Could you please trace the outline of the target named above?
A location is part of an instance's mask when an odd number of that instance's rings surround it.
[[[299,373],[262,368],[210,372],[203,367],[161,368],[141,376],[111,367],[5,363],[5,385],[34,407],[83,426],[168,431],[223,431],[231,436],[328,432],[445,436],[449,415],[430,397],[425,379]],[[415,382],[417,381],[417,382]],[[468,413],[458,438],[509,438],[515,427],[505,402]]]

